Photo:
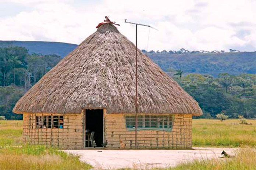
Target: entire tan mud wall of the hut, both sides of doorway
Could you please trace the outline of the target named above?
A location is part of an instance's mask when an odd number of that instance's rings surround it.
[[[135,149],[135,131],[129,131],[125,125],[125,116],[127,115],[129,114],[107,114],[104,109],[104,140],[108,140],[107,148]],[[36,128],[36,116],[64,116],[63,129]],[[85,149],[83,117],[83,111],[81,114],[65,115],[24,113],[23,140],[30,144],[41,144],[60,149]],[[125,147],[120,144],[120,140],[126,144]],[[171,131],[137,131],[137,146],[138,149],[191,149],[192,115],[175,114]]]

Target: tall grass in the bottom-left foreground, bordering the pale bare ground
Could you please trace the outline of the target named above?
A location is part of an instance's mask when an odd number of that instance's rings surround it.
[[[1,170],[88,170],[92,166],[79,160],[79,156],[46,148],[41,145],[2,147]]]

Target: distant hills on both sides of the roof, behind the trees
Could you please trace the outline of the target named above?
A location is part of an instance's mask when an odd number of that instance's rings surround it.
[[[0,47],[22,46],[29,53],[56,54],[65,57],[77,44],[46,41],[0,41]],[[166,72],[181,69],[186,74],[200,73],[217,76],[219,73],[256,74],[256,52],[238,53],[145,53]]]

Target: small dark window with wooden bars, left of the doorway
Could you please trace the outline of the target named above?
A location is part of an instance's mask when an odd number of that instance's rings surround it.
[[[36,128],[60,128],[63,129],[63,116],[36,116]]]

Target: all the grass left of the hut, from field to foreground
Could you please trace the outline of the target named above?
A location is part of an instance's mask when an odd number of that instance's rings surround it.
[[[47,148],[43,145],[22,145],[22,121],[0,121],[1,170],[88,170],[89,164],[79,156]]]

